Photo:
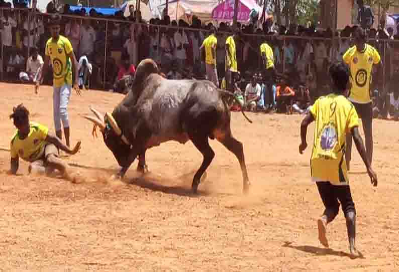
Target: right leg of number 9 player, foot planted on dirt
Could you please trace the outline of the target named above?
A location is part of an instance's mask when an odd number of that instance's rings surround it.
[[[356,209],[353,203],[352,194],[349,185],[345,186],[334,186],[334,191],[341,202],[342,211],[345,215],[346,228],[348,231],[349,250],[351,257],[355,258],[358,256],[356,249]]]

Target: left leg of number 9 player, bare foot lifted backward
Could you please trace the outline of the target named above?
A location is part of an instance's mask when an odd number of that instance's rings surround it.
[[[317,220],[319,229],[319,240],[325,247],[328,247],[326,237],[327,224],[334,220],[339,212],[339,203],[334,194],[334,186],[330,182],[317,182],[320,197],[322,198],[325,210],[321,218]]]

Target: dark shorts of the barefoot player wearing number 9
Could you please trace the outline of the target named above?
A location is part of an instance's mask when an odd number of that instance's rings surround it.
[[[344,214],[350,211],[356,213],[349,185],[333,185],[330,182],[316,182],[316,184],[327,212],[338,214],[341,203]]]

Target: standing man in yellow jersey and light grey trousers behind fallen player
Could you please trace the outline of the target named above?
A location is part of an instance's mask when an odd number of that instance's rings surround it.
[[[78,86],[79,73],[77,71],[77,61],[73,54],[72,45],[67,38],[60,35],[61,17],[53,14],[50,18],[49,28],[51,38],[46,43],[46,56],[44,66],[39,80],[36,82],[35,92],[38,93],[39,86],[43,82],[43,77],[47,72],[51,60],[53,67],[53,115],[55,134],[62,139],[61,121],[64,126],[66,145],[69,147],[69,116],[68,103],[72,89],[72,69],[75,75],[74,89],[80,96]]]

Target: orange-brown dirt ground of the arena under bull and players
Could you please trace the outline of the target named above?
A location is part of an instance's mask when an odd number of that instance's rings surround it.
[[[21,102],[31,120],[54,130],[50,87],[41,87],[39,95],[29,85],[0,89],[2,148],[9,148],[15,131],[8,116]],[[331,248],[317,239],[323,206],[310,181],[311,148],[298,153],[303,116],[249,113],[250,124],[233,113],[251,192],[242,194],[234,155],[212,141],[215,159],[200,196],[192,196],[202,156],[190,142],[149,150],[151,172],[144,177],[135,162],[123,181],[109,179],[118,164],[81,115],[90,113],[89,105],[111,112],[121,99],[102,91],[72,94],[71,142],[81,140],[82,149],[68,162],[84,177],[78,184],[28,176],[25,162],[19,176],[10,176],[9,152],[0,151],[0,271],[399,271],[397,122],[373,123],[375,190],[353,150],[350,179],[363,258],[351,260],[341,210],[328,226]]]

